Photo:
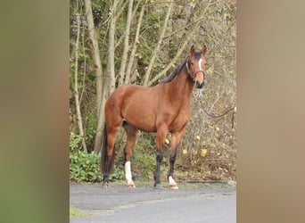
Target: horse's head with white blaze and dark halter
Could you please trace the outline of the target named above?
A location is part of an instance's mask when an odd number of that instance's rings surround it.
[[[204,85],[204,79],[206,77],[205,71],[205,54],[207,48],[205,45],[202,47],[202,51],[196,51],[194,45],[191,47],[191,55],[186,62],[186,68],[188,74],[194,79],[197,88],[202,88]]]

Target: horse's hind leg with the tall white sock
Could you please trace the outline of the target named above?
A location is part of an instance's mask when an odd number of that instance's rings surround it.
[[[125,146],[125,177],[128,181],[128,187],[136,187],[131,176],[130,160],[132,157],[132,150],[136,144],[136,133],[137,129],[129,125],[127,122],[123,123],[123,127],[127,135],[127,143]]]

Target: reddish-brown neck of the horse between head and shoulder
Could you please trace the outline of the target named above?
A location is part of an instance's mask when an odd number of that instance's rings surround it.
[[[181,103],[185,103],[185,105],[190,103],[194,89],[194,81],[188,77],[185,67],[180,71],[176,78],[169,82],[169,87],[169,96],[171,100],[176,99]]]

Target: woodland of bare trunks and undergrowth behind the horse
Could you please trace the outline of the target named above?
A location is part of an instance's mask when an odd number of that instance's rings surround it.
[[[111,92],[127,83],[157,85],[185,59],[191,45],[207,45],[208,76],[203,89],[194,90],[176,176],[235,179],[235,43],[232,0],[70,0],[70,179],[101,180],[103,107]],[[125,140],[121,130],[113,179],[124,178]],[[170,135],[167,145],[169,141]],[[136,178],[152,178],[154,153],[155,134],[139,132],[132,161]],[[167,151],[164,155],[166,166]]]

